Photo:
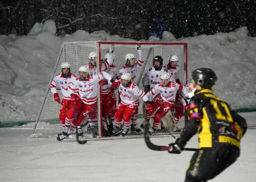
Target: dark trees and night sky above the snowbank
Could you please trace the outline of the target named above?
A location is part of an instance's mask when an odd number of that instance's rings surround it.
[[[231,32],[256,36],[256,0],[0,0],[0,34],[26,35],[52,19],[57,34],[105,30],[135,40],[163,29],[176,38]],[[150,30],[149,30],[150,27]]]

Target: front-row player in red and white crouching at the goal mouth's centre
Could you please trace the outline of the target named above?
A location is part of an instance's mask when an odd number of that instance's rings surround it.
[[[130,73],[124,73],[121,80],[115,80],[112,85],[118,87],[121,102],[117,106],[117,113],[115,114],[116,128],[113,135],[121,132],[120,136],[127,135],[131,126],[132,113],[136,111],[139,105],[138,97],[142,97],[146,102],[147,109],[151,110],[150,101],[147,94],[141,90],[136,84],[132,83]],[[124,130],[121,128],[122,120],[124,120]]]

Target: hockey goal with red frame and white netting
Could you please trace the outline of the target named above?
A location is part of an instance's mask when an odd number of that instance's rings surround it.
[[[145,57],[145,62],[141,66],[141,69],[136,73],[135,83],[143,89],[142,85],[142,77],[145,75],[146,71],[151,68],[153,58],[156,55],[160,55],[163,57],[164,63],[163,65],[168,64],[168,58],[170,55],[175,54],[179,58],[178,65],[180,67],[179,75],[180,80],[183,85],[187,83],[187,43],[178,43],[178,42],[110,42],[110,41],[88,41],[88,42],[67,42],[63,43],[61,46],[60,53],[58,55],[56,65],[51,76],[50,82],[54,79],[54,77],[61,73],[61,63],[68,62],[71,64],[71,73],[75,75],[79,75],[78,69],[82,65],[88,65],[89,59],[88,55],[90,52],[97,52],[97,69],[96,73],[100,72],[100,57],[104,57],[107,53],[107,49],[111,44],[114,44],[115,50],[115,61],[114,65],[117,69],[120,69],[125,64],[125,55],[127,53],[135,54],[137,60],[139,58],[139,54],[136,48],[136,45],[141,45],[142,53]],[[92,74],[96,74],[92,73]],[[57,91],[62,98],[62,93],[60,87],[57,85]],[[99,88],[99,85],[97,85]],[[101,103],[101,89],[99,90],[96,108],[92,110],[90,116],[86,117],[86,119],[82,122],[83,132],[85,135],[90,133],[90,127],[88,121],[95,123],[98,126],[98,136],[102,136],[102,107],[104,107],[104,103]],[[116,97],[118,100],[118,91],[115,91]],[[118,101],[117,101],[118,102]],[[139,98],[139,113],[137,124],[138,126],[144,121],[142,106],[143,100]],[[118,103],[117,103],[118,104]],[[46,90],[45,99],[42,103],[42,107],[39,112],[38,119],[36,120],[33,137],[49,137],[49,136],[57,136],[57,134],[61,133],[63,130],[62,124],[59,120],[59,111],[60,104],[54,101],[53,94],[50,91],[50,83],[49,87]],[[183,128],[185,124],[184,117],[178,123],[178,128]]]

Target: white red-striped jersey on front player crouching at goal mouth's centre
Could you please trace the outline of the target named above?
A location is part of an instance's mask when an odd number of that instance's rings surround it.
[[[113,87],[118,87],[121,102],[124,105],[128,104],[139,104],[138,97],[142,97],[143,101],[148,101],[147,94],[141,90],[135,83],[130,83],[127,87],[121,84],[121,80],[115,80],[112,83]]]

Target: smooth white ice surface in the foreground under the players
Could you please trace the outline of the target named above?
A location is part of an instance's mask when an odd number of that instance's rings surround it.
[[[256,113],[243,114],[254,126]],[[253,127],[250,127],[253,128]],[[31,138],[30,127],[0,129],[0,182],[183,182],[193,152],[181,154],[148,149],[144,139],[88,141]],[[213,182],[256,181],[256,130],[242,139],[237,162]],[[152,138],[157,145],[174,142]],[[197,135],[187,147],[196,148]]]

